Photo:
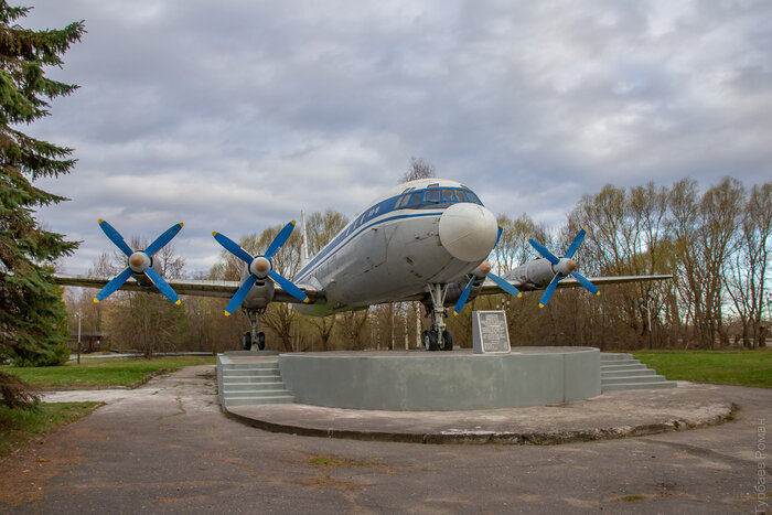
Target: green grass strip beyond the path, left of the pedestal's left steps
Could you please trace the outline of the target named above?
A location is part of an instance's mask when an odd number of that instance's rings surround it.
[[[15,367],[2,366],[0,371],[13,374],[39,388],[132,386],[144,382],[161,369],[173,372],[184,366],[213,364],[214,356],[167,356],[153,360],[143,357],[111,357],[81,360],[62,366]]]

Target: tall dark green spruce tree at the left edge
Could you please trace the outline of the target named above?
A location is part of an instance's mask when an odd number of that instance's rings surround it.
[[[22,129],[49,115],[50,100],[77,88],[46,78],[44,68],[61,66],[62,55],[85,30],[83,21],[61,30],[23,29],[17,21],[29,11],[0,0],[0,356],[46,364],[56,361],[56,346],[67,337],[62,291],[51,278],[53,262],[72,254],[77,243],[41,227],[35,210],[66,199],[34,183],[68,173],[75,160],[73,149]],[[0,403],[12,404],[2,386],[0,377]]]

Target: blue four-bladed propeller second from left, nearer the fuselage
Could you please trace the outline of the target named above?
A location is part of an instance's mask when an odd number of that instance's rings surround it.
[[[309,301],[309,298],[305,293],[303,293],[303,290],[294,286],[292,281],[281,277],[278,272],[274,270],[274,266],[270,260],[270,258],[274,257],[274,255],[281,248],[281,246],[287,243],[287,239],[289,239],[293,229],[294,221],[290,222],[281,230],[279,230],[279,234],[276,235],[276,238],[274,238],[274,240],[268,246],[266,254],[257,257],[251,257],[249,253],[244,250],[237,243],[235,243],[227,236],[219,234],[216,230],[212,233],[214,239],[216,239],[217,243],[222,245],[227,251],[229,251],[238,259],[244,261],[247,265],[247,269],[249,270],[249,276],[247,276],[247,278],[244,280],[238,290],[236,290],[236,293],[233,296],[230,302],[228,302],[228,305],[225,308],[226,316],[228,316],[230,313],[236,311],[236,309],[239,305],[242,305],[242,302],[244,302],[244,299],[246,299],[247,294],[249,293],[249,290],[251,290],[251,287],[255,286],[255,282],[258,279],[265,279],[266,277],[270,277],[274,281],[278,282],[279,286],[287,293],[291,294],[299,301]]]

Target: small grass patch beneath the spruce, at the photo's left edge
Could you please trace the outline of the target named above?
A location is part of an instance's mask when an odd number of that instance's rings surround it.
[[[94,411],[101,403],[42,403],[37,409],[0,407],[0,459],[33,438]]]

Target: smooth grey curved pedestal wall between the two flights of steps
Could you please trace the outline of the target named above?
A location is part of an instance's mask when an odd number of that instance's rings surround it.
[[[290,353],[279,355],[278,367],[296,403],[329,408],[496,409],[601,393],[600,351],[593,347],[516,347],[495,355],[471,350]]]

